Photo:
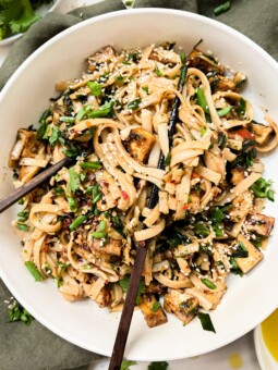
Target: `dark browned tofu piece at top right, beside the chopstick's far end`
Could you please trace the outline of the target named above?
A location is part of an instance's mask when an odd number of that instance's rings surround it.
[[[198,49],[193,49],[188,57],[189,66],[195,66],[204,73],[217,72],[223,75],[225,69],[220,63],[217,63],[211,57],[204,54]]]

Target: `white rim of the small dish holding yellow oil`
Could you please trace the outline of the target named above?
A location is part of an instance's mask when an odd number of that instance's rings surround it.
[[[262,370],[278,370],[278,362],[274,359],[265,345],[261,325],[256,326],[254,330],[254,343],[257,360]]]

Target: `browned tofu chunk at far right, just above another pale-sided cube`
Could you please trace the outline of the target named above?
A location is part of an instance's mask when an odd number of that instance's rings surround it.
[[[250,233],[261,236],[269,236],[274,229],[275,218],[262,213],[249,214],[245,227]]]

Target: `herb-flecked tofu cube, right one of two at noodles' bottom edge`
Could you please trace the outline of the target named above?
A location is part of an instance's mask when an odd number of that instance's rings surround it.
[[[168,289],[165,295],[164,307],[167,312],[174,313],[185,324],[196,316],[198,299],[179,289]]]

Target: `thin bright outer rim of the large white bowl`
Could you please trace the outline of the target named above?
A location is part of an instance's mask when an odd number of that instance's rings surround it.
[[[211,20],[208,17],[205,17],[203,15],[200,14],[195,14],[195,13],[191,13],[191,12],[186,12],[186,11],[181,11],[181,10],[170,10],[170,9],[162,9],[162,8],[142,8],[142,9],[131,9],[131,10],[120,10],[120,11],[116,11],[116,12],[109,12],[106,14],[101,14],[101,15],[97,15],[93,18],[83,21],[76,25],[73,25],[71,27],[69,27],[68,29],[61,32],[60,34],[56,35],[55,37],[52,37],[50,40],[48,40],[47,42],[45,42],[43,46],[40,46],[35,52],[33,52],[23,63],[22,65],[14,72],[14,74],[10,77],[10,79],[7,82],[5,86],[3,87],[2,91],[0,92],[0,103],[4,97],[4,95],[9,91],[9,89],[13,86],[13,84],[16,83],[17,76],[20,76],[23,71],[25,70],[25,67],[27,67],[39,54],[44,53],[44,51],[48,48],[51,48],[51,46],[56,42],[59,42],[60,39],[68,37],[69,35],[71,35],[72,33],[74,33],[77,29],[81,28],[86,28],[87,25],[89,24],[97,24],[100,23],[102,21],[109,20],[109,18],[113,18],[113,17],[124,17],[124,16],[129,16],[130,14],[165,14],[165,15],[173,15],[173,16],[183,16],[184,18],[192,18],[192,20],[196,20],[197,22],[204,23],[204,24],[208,24],[221,32],[228,33],[230,34],[232,37],[238,38],[239,40],[241,40],[244,44],[247,44],[250,46],[250,48],[252,48],[253,50],[255,50],[257,53],[261,54],[261,57],[266,60],[266,62],[268,64],[270,64],[274,70],[277,72],[278,74],[278,63],[275,61],[275,59],[273,57],[270,57],[262,47],[259,47],[257,44],[255,44],[253,40],[251,40],[249,37],[244,36],[243,34],[241,34],[240,32],[233,29],[232,27],[222,24],[216,20]],[[83,347],[85,349],[88,349],[90,351],[96,351],[100,355],[105,355],[105,356],[109,356],[110,354],[107,350],[99,350],[99,348],[93,348],[93,346],[86,346],[84,343],[81,345],[77,341],[75,341],[72,337],[69,337],[68,334],[64,334],[60,329],[53,326],[51,323],[49,323],[47,320],[45,320],[45,318],[43,316],[40,316],[40,313],[36,312],[33,310],[32,306],[29,306],[28,304],[25,303],[24,297],[22,296],[21,292],[16,289],[16,286],[14,286],[10,281],[9,281],[9,276],[4,274],[4,272],[2,271],[1,268],[1,263],[0,263],[0,276],[2,278],[4,284],[8,286],[8,288],[14,294],[14,296],[16,298],[19,298],[19,301],[46,328],[48,328],[50,331],[52,331],[53,333],[56,333],[57,335],[61,336],[62,338],[80,346]],[[274,307],[271,307],[269,310],[267,310],[267,312],[265,312],[264,314],[262,314],[262,317],[259,317],[259,320],[263,321],[268,314],[271,313],[271,311],[275,309],[275,304]],[[253,323],[250,324],[247,328],[245,328],[243,331],[241,331],[239,334],[234,333],[233,335],[230,335],[229,337],[226,338],[226,341],[223,341],[221,343],[220,346],[225,346],[228,343],[231,343],[232,341],[237,340],[238,337],[246,334],[249,331],[253,330],[254,326],[257,324]],[[219,345],[215,345],[213,347],[209,348],[210,350],[217,349],[220,347]],[[202,350],[197,350],[195,354],[192,354],[192,356],[201,355],[204,353],[207,353],[207,349]],[[170,360],[174,360],[174,359],[180,359],[182,358],[181,356],[173,356],[172,358],[170,358]],[[144,357],[136,357],[133,358],[131,357],[131,359],[135,359],[135,360],[146,360]],[[155,358],[152,360],[156,360]]]

